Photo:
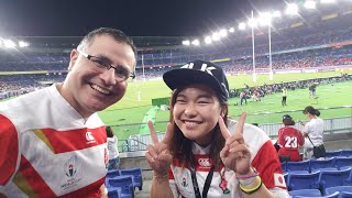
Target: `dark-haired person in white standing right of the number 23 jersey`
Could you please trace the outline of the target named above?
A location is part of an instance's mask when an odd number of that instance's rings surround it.
[[[315,146],[323,144],[323,121],[319,118],[320,111],[318,109],[315,109],[312,106],[307,106],[302,112],[309,119],[308,122],[301,122],[301,124],[305,127],[304,136],[309,136]],[[305,160],[314,157],[314,145],[311,144],[311,142],[308,139],[305,140]]]

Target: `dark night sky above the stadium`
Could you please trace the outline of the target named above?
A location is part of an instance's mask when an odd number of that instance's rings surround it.
[[[197,36],[284,0],[0,0],[0,37],[81,36],[111,26],[131,36]]]

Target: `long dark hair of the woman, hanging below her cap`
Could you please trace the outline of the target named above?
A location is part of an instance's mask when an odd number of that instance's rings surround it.
[[[193,157],[193,141],[187,139],[184,133],[180,131],[180,129],[176,125],[174,121],[174,106],[176,103],[176,98],[177,95],[183,90],[184,88],[178,88],[173,91],[169,106],[170,106],[170,114],[169,114],[169,122],[172,123],[172,130],[174,130],[174,138],[172,141],[172,144],[169,145],[170,153],[173,154],[173,158],[178,158],[182,163],[183,166],[186,166],[187,162],[189,162],[189,158]],[[223,121],[224,123],[228,122],[228,101],[224,99],[221,99],[221,97],[218,96],[218,99],[220,101],[221,107],[223,108]],[[221,134],[220,127],[217,124],[213,129],[212,132],[212,138],[211,138],[211,147],[210,147],[210,153],[209,157],[211,158],[212,162],[215,162],[216,167],[219,167],[222,162],[220,158],[220,151],[224,146],[224,139]]]

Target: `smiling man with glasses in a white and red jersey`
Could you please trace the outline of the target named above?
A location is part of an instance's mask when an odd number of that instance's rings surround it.
[[[100,197],[109,158],[96,112],[124,96],[135,64],[131,38],[98,29],[72,51],[64,82],[1,102],[0,197]]]

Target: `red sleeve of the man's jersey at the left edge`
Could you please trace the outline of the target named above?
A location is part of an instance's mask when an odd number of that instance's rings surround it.
[[[12,175],[19,158],[19,135],[13,123],[0,114],[0,186],[4,186]]]

